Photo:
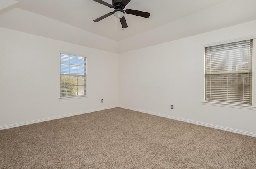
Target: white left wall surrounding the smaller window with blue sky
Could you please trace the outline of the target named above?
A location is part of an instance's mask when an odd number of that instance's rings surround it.
[[[5,28],[0,37],[0,129],[118,105],[118,54]],[[60,51],[87,56],[87,98],[59,100]]]

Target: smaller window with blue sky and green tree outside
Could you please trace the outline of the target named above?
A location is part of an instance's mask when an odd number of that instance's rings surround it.
[[[60,54],[60,97],[86,95],[86,57]]]

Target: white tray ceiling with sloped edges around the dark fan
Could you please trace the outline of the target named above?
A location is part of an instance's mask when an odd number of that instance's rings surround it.
[[[111,0],[104,1],[111,4]],[[163,36],[163,39],[165,37],[162,30],[177,32],[180,28],[175,28],[175,26],[178,24],[182,27],[191,26],[193,25],[189,24],[191,20],[201,19],[205,23],[194,23],[193,32],[189,30],[189,27],[186,28],[186,36],[255,20],[255,6],[256,0],[131,0],[126,8],[150,12],[151,15],[149,18],[142,18],[125,14],[128,28],[122,30],[120,20],[116,20],[114,16],[93,22],[94,19],[113,11],[112,8],[93,0],[0,0],[0,27],[89,47],[94,46],[83,42],[84,37],[94,38],[97,41],[94,43],[103,46],[106,43],[113,43],[112,47],[107,45],[108,48],[113,48],[111,50],[104,47],[100,49],[120,53],[136,48],[136,43],[130,44],[134,40],[136,42],[135,37],[140,40],[139,37],[148,37],[153,33],[159,34],[158,38]],[[242,15],[238,15],[241,12]],[[213,22],[202,18],[205,16]],[[208,28],[208,25],[211,28]],[[175,37],[174,39],[182,38],[182,36],[172,34],[170,36]],[[166,40],[159,39],[157,43]],[[168,40],[173,40],[173,38],[168,38]],[[116,49],[114,46],[120,43],[129,43],[134,47]],[[144,46],[148,45],[154,45],[154,42],[144,44]]]

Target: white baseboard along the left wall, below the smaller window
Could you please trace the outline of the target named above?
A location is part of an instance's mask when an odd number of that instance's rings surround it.
[[[70,117],[70,116],[74,116],[74,115],[80,115],[80,114],[85,114],[85,113],[92,113],[94,111],[101,111],[101,110],[112,109],[112,108],[116,108],[116,107],[118,107],[118,106],[116,105],[116,106],[110,106],[110,107],[103,107],[103,108],[99,108],[99,109],[92,109],[92,110],[81,111],[81,112],[77,112],[77,113],[58,115],[58,116],[54,116],[54,117],[48,117],[48,118],[44,118],[44,119],[32,120],[32,121],[27,121],[27,122],[23,122],[23,123],[4,125],[4,126],[0,126],[0,130],[14,128],[14,127],[19,127],[19,126],[22,126],[22,125],[29,125],[29,124],[34,124],[34,123],[40,123],[40,122],[50,121],[50,120],[55,120],[55,119],[61,119],[61,118],[64,118],[64,117]]]

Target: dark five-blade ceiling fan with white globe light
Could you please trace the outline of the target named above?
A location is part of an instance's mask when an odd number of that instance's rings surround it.
[[[93,0],[93,1],[115,9],[113,12],[109,12],[108,14],[105,14],[105,15],[101,16],[100,18],[97,18],[96,20],[94,20],[94,22],[99,22],[100,20],[114,14],[114,16],[116,16],[116,18],[120,19],[120,22],[122,24],[122,28],[127,28],[128,26],[127,26],[126,20],[124,18],[124,13],[132,14],[132,15],[136,15],[136,16],[141,16],[141,17],[144,17],[144,18],[148,18],[150,16],[150,13],[148,13],[148,12],[142,12],[142,11],[139,11],[139,10],[132,10],[132,9],[124,10],[125,6],[131,0],[112,0],[112,5],[108,4],[107,2],[104,2],[102,0]]]

